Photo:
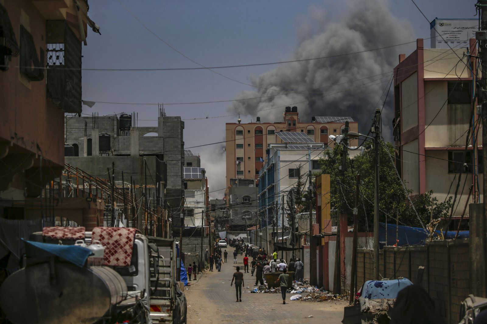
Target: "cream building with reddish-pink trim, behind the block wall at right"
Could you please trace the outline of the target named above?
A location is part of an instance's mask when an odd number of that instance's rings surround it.
[[[477,66],[476,42],[453,50],[423,45],[418,39],[416,50],[400,54],[394,68],[396,166],[412,195],[433,190],[440,202],[454,194],[461,172],[460,208],[454,207],[460,215],[470,185],[471,201],[482,197],[482,123],[472,102],[476,71],[470,69]]]

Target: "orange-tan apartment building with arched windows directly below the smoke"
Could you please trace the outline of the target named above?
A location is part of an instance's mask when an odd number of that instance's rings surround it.
[[[258,179],[259,170],[266,159],[265,150],[269,144],[282,143],[278,132],[302,132],[312,138],[314,142],[324,143],[333,147],[330,135],[339,135],[349,121],[350,130],[358,132],[358,125],[350,117],[312,117],[309,122],[302,122],[299,118],[298,107],[286,107],[284,119],[280,122],[226,123],[226,186],[230,186],[230,179]],[[351,146],[356,146],[352,140]]]

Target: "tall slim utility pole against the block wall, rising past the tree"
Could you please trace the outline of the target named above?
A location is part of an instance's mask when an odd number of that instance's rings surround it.
[[[380,144],[380,108],[375,110],[372,133],[375,133],[374,163],[374,279],[379,280],[379,144]]]

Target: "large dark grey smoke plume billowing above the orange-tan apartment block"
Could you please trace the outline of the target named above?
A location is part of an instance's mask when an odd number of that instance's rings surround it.
[[[342,10],[334,21],[323,8],[310,7],[310,15],[300,17],[299,43],[291,59],[365,51],[414,39],[411,24],[393,16],[386,0],[353,1],[346,6],[348,10]],[[372,119],[368,117],[389,85],[398,54],[413,46],[284,64],[251,77],[251,83],[260,88],[243,91],[235,99],[264,98],[233,102],[228,110],[273,122],[282,121],[283,106],[296,105],[302,121],[311,121],[311,116],[351,116],[367,132]],[[273,96],[287,92],[300,93]],[[393,89],[382,116],[387,137],[391,136],[392,97]]]

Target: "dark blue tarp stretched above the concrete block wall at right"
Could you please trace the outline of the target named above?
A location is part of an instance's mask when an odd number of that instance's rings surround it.
[[[379,241],[384,242],[386,240],[386,224],[379,224]],[[398,240],[397,246],[405,245],[425,245],[426,239],[428,239],[429,233],[423,228],[403,226],[399,225],[397,228]],[[436,231],[434,237],[437,237],[440,231]],[[453,239],[456,235],[456,231],[443,232],[445,239]],[[458,239],[467,239],[470,236],[470,231],[460,231],[458,233]],[[387,224],[387,245],[392,246],[396,243],[396,225]]]

